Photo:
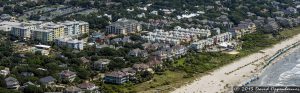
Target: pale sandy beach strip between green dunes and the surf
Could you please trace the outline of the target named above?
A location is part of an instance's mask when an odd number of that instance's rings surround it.
[[[266,58],[297,41],[300,41],[300,35],[282,41],[271,48],[261,50],[263,52],[254,53],[236,60],[231,64],[214,70],[209,75],[199,77],[192,83],[172,91],[172,93],[230,93],[233,86],[239,85],[259,74],[260,70],[258,69],[262,68]],[[293,50],[295,49],[291,49],[289,52]]]

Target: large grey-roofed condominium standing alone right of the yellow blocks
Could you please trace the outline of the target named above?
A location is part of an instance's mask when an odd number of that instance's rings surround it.
[[[119,19],[117,22],[106,26],[107,34],[124,34],[136,33],[142,30],[141,24],[136,20]]]

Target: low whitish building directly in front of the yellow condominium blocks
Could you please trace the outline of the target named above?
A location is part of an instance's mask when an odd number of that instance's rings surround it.
[[[82,40],[72,38],[59,38],[55,40],[55,44],[58,46],[67,46],[69,48],[83,50],[84,42]]]

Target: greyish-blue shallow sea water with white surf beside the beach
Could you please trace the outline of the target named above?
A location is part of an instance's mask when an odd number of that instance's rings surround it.
[[[249,86],[300,86],[300,48],[269,65]]]

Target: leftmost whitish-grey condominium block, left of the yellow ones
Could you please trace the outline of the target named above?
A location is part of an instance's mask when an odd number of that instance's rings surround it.
[[[13,26],[10,34],[19,37],[20,39],[27,40],[31,37],[31,30],[34,29],[36,29],[35,26],[28,23],[22,23],[18,26]]]

